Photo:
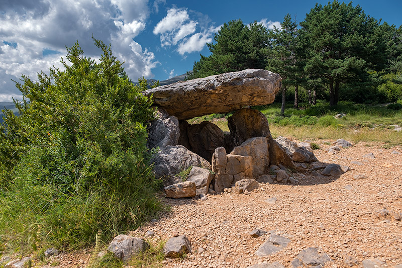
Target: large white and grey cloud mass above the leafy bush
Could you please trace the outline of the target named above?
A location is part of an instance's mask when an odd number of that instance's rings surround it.
[[[11,2],[10,2],[11,3]],[[94,38],[112,44],[117,58],[133,80],[153,76],[158,62],[134,41],[146,27],[148,0],[13,0],[0,3],[0,101],[18,96],[11,79],[21,74],[36,78],[40,70],[59,67],[65,46],[78,40],[85,55],[96,58]]]

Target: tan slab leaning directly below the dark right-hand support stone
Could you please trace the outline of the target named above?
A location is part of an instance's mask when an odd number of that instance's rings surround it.
[[[265,137],[247,139],[240,146],[233,148],[231,154],[251,157],[252,177],[259,177],[268,169],[268,143]]]

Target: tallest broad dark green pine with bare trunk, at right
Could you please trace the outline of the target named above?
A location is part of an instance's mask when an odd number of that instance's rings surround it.
[[[386,64],[384,32],[359,6],[316,4],[300,25],[305,71],[329,85],[331,106],[338,103],[341,82],[365,79],[367,69],[381,70]]]

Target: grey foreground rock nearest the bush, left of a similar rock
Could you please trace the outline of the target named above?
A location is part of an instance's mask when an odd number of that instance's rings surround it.
[[[108,250],[123,261],[129,260],[135,254],[144,252],[149,248],[149,244],[144,239],[119,234],[108,246]]]

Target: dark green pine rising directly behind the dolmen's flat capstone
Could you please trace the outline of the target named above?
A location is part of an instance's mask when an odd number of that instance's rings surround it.
[[[194,62],[188,79],[206,77],[247,68],[264,69],[268,44],[267,29],[257,22],[245,26],[241,20],[224,23],[207,44],[211,55]]]

